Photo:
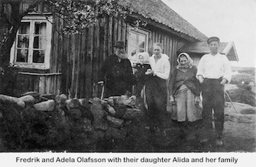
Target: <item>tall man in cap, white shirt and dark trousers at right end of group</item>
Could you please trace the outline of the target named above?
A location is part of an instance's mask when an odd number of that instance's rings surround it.
[[[208,142],[212,134],[212,110],[216,132],[216,146],[222,146],[222,130],[225,110],[225,83],[231,81],[231,66],[225,55],[218,53],[220,39],[210,37],[207,40],[210,53],[203,55],[198,63],[196,77],[202,91],[202,120],[204,138]]]

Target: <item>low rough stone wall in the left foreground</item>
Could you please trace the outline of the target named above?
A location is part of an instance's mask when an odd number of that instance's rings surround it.
[[[13,151],[115,151],[118,142],[136,150],[147,144],[141,137],[145,113],[135,96],[68,99],[27,92],[0,95],[0,109],[3,145]]]

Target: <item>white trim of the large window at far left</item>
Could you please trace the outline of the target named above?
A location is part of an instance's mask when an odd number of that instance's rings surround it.
[[[32,69],[49,69],[50,68],[50,51],[51,51],[51,43],[52,43],[52,16],[48,16],[47,18],[42,15],[26,15],[22,18],[21,22],[30,22],[30,32],[29,36],[32,37],[31,40],[29,40],[29,55],[28,57],[31,57],[32,53],[31,50],[33,47],[33,31],[32,26],[34,26],[35,21],[45,21],[46,22],[46,51],[44,56],[44,63],[33,63],[32,59],[30,59],[29,62],[23,63],[23,62],[16,62],[17,53],[17,35],[15,37],[15,41],[13,42],[13,46],[11,47],[11,53],[10,53],[10,63],[11,65],[14,65],[15,67],[24,67],[24,68],[32,68]]]

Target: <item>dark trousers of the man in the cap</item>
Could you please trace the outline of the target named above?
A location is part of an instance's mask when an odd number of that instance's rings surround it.
[[[225,90],[220,84],[222,78],[204,78],[202,89],[202,120],[206,130],[212,129],[212,110],[214,111],[214,124],[217,137],[221,137],[224,123]]]

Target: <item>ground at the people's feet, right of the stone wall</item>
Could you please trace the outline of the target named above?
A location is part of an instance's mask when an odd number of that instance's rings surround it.
[[[125,140],[103,141],[94,152],[255,152],[255,121],[255,108],[246,104],[227,103],[222,147],[215,146],[214,138],[206,144],[200,144],[198,138],[187,140],[181,128],[174,126],[170,118],[166,117],[164,131],[152,132],[146,124],[137,122],[131,124]],[[1,138],[0,152],[8,152]]]

